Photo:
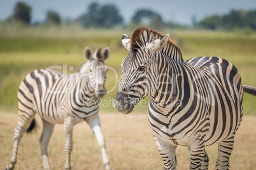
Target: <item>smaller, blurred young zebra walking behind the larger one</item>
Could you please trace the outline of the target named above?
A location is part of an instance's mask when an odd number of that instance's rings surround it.
[[[66,136],[65,169],[71,169],[70,157],[73,148],[72,134],[75,124],[86,121],[94,132],[106,169],[110,169],[108,155],[99,121],[99,98],[106,93],[106,65],[104,60],[110,56],[108,48],[98,49],[94,55],[85,48],[85,58],[75,74],[60,74],[54,70],[34,70],[21,82],[18,89],[18,126],[14,131],[13,154],[10,165],[13,169],[17,161],[18,143],[22,134],[35,128],[34,115],[38,113],[43,120],[43,133],[40,147],[44,169],[50,169],[47,146],[54,124],[64,124]],[[30,124],[30,126],[29,126]]]

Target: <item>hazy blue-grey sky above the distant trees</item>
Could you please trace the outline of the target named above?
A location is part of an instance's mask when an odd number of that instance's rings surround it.
[[[62,18],[76,18],[86,12],[87,6],[92,2],[99,4],[115,4],[125,22],[131,20],[136,10],[146,8],[160,13],[165,21],[190,24],[192,15],[197,20],[204,16],[228,13],[235,10],[255,10],[256,0],[23,0],[32,7],[32,22],[45,20],[47,10],[55,10]],[[10,16],[17,0],[0,1],[0,20]]]

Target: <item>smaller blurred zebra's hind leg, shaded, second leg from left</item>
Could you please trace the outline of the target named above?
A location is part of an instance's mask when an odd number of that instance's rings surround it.
[[[50,164],[48,160],[47,147],[49,143],[50,136],[52,136],[52,131],[54,128],[54,124],[51,124],[47,121],[43,120],[43,133],[40,138],[40,147],[42,152],[42,160],[43,160],[43,169],[50,169]]]

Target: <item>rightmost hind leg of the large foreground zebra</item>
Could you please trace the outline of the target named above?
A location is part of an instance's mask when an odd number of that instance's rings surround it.
[[[218,143],[217,169],[229,169],[229,157],[234,147],[234,135]]]

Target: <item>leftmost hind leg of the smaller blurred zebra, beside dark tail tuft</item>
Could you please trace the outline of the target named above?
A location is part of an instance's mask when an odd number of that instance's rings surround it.
[[[26,110],[26,111],[24,111]],[[17,162],[17,154],[18,154],[18,143],[20,142],[23,133],[29,128],[32,120],[34,119],[35,112],[30,109],[21,110],[19,108],[18,111],[18,126],[14,130],[14,137],[13,137],[13,153],[11,155],[10,164],[6,166],[6,169],[14,169],[14,166]]]

